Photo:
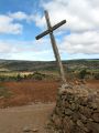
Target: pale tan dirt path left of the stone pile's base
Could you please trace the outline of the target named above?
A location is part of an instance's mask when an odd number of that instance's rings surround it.
[[[55,103],[0,109],[0,133],[46,133],[45,123]],[[33,131],[34,130],[34,131]]]

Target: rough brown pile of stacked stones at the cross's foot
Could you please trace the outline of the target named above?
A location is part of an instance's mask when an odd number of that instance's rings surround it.
[[[47,129],[50,133],[99,133],[99,90],[63,84]]]

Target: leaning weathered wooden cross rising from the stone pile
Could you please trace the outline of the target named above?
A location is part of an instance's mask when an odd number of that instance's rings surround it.
[[[36,40],[38,40],[42,37],[44,37],[44,35],[50,33],[51,42],[52,42],[52,47],[53,47],[53,51],[54,51],[54,55],[56,58],[56,62],[57,62],[58,68],[59,68],[59,73],[61,73],[61,76],[62,76],[62,81],[64,83],[66,83],[63,64],[62,64],[59,52],[58,52],[58,49],[57,49],[57,45],[56,45],[56,41],[55,41],[54,34],[53,34],[53,31],[56,30],[57,28],[59,28],[61,25],[63,25],[64,23],[66,23],[66,20],[63,20],[59,23],[57,23],[54,27],[52,27],[47,11],[45,11],[45,19],[46,19],[46,23],[47,23],[47,30],[44,31],[43,33],[41,33],[40,35],[37,35]]]

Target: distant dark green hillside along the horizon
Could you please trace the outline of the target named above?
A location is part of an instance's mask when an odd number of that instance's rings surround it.
[[[96,60],[68,60],[63,61],[65,69],[89,69],[99,70],[99,59]],[[55,61],[19,61],[0,60],[0,71],[55,71],[57,70]]]

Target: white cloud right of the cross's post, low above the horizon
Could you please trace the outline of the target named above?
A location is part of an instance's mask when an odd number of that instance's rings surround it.
[[[99,32],[73,33],[64,38],[63,52],[99,54]]]

